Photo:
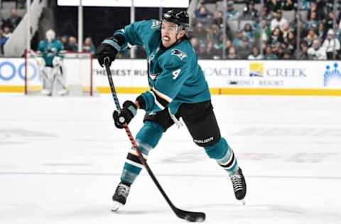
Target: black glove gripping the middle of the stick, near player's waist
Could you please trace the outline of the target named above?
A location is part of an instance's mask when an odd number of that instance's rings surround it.
[[[125,101],[123,103],[123,108],[121,111],[114,111],[112,113],[112,118],[114,118],[114,123],[117,128],[124,128],[123,125],[129,124],[131,119],[136,116],[137,106],[132,101]]]

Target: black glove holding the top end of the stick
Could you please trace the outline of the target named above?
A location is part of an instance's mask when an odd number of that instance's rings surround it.
[[[119,52],[114,46],[119,47],[117,40],[115,38],[109,38],[104,40],[97,47],[95,55],[97,57],[99,65],[103,67],[105,57],[109,57],[109,65],[112,65],[112,62],[114,62],[117,53]]]

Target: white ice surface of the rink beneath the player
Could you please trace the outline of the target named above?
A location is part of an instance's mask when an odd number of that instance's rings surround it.
[[[119,95],[135,99],[134,95]],[[111,95],[0,96],[0,223],[186,223],[146,172],[110,212],[130,143]],[[341,223],[341,98],[213,96],[224,138],[247,179],[246,206],[227,174],[170,128],[148,163],[175,206],[205,223]],[[131,122],[141,127],[143,113]]]

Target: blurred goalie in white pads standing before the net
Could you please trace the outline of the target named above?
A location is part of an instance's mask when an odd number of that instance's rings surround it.
[[[67,94],[63,76],[63,44],[55,39],[55,31],[46,31],[45,40],[38,45],[37,63],[43,82],[42,94],[52,96],[55,89],[60,96]]]

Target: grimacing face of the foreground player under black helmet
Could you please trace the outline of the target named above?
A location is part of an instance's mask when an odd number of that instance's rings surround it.
[[[181,38],[185,31],[178,33],[178,25],[175,23],[162,22],[161,24],[161,41],[164,47],[170,47],[179,38]]]

